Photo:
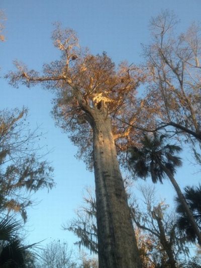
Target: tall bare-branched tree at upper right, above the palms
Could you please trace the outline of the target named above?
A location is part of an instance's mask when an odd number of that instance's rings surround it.
[[[192,144],[200,143],[201,28],[193,23],[176,35],[177,24],[176,16],[168,11],[150,22],[153,41],[144,46],[150,82],[144,103],[155,107],[156,130],[166,128]]]

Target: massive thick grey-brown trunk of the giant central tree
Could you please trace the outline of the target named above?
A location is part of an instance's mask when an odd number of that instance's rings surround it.
[[[91,125],[99,268],[142,267],[111,121],[97,113]]]

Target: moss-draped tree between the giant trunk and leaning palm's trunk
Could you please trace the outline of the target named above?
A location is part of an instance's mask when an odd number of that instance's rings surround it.
[[[156,200],[154,187],[140,187],[139,190],[143,202],[138,204],[134,197],[131,199],[131,209],[136,226],[147,236],[149,247],[144,245],[146,240],[140,241],[142,249],[145,248],[144,258],[150,267],[153,264],[153,267],[178,267],[181,254],[188,256],[188,247],[185,237],[177,229],[176,218],[164,200]]]

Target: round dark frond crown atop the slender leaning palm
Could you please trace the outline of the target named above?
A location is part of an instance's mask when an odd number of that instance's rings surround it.
[[[181,166],[181,158],[174,155],[181,151],[177,145],[165,144],[167,135],[153,136],[145,134],[141,139],[141,147],[133,147],[130,149],[129,164],[134,170],[134,173],[146,178],[151,176],[152,182],[163,182],[167,176],[164,167],[168,168],[173,175],[176,172],[176,167]]]

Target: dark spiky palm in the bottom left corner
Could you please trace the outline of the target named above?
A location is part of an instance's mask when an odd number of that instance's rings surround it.
[[[0,221],[0,267],[2,268],[26,268],[31,267],[33,245],[23,245],[16,235],[19,231],[19,222],[4,218]],[[28,264],[29,263],[29,264]]]

